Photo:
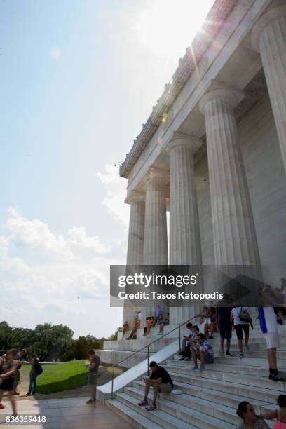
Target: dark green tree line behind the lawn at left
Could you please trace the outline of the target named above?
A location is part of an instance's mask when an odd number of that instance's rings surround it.
[[[73,339],[74,332],[64,325],[44,323],[34,329],[11,327],[4,320],[0,322],[0,355],[9,348],[27,349],[27,355],[39,357],[41,362],[73,359],[86,359],[89,349],[102,349],[106,338],[92,335],[79,336]],[[114,339],[114,335],[108,339]]]

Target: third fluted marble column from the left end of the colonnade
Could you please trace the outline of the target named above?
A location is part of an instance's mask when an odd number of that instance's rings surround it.
[[[170,265],[202,264],[193,153],[201,142],[175,132],[170,154]],[[196,307],[170,307],[170,324],[189,320]]]

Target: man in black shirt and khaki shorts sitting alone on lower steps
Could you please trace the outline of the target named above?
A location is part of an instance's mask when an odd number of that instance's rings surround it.
[[[147,405],[145,409],[147,411],[153,411],[156,409],[156,400],[158,392],[169,393],[174,385],[172,379],[168,372],[163,368],[157,365],[156,362],[152,361],[149,365],[151,369],[151,376],[145,380],[145,395],[144,400],[139,402],[139,407]],[[150,388],[153,388],[153,401],[152,404],[148,406],[148,393]]]

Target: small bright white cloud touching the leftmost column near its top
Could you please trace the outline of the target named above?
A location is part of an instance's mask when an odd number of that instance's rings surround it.
[[[119,177],[119,167],[106,164],[105,172],[97,172],[97,177],[104,184],[107,190],[107,197],[102,204],[107,207],[114,218],[121,222],[125,229],[128,229],[130,207],[124,203],[126,197],[126,180]]]

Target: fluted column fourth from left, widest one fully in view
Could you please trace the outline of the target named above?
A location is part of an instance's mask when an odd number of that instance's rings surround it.
[[[259,263],[257,237],[236,130],[234,90],[210,90],[200,100],[205,114],[210,198],[217,265]]]

